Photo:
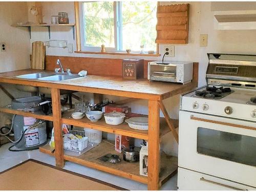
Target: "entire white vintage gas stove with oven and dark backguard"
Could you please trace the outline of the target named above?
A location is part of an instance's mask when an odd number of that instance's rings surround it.
[[[179,190],[256,190],[256,55],[208,58],[208,85],[181,96]]]

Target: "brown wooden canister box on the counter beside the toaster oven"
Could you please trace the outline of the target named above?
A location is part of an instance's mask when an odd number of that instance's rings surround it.
[[[143,59],[123,59],[123,78],[139,79],[144,77]]]

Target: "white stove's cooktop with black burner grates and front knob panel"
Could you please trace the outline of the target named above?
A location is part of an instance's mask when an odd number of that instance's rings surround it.
[[[182,97],[181,110],[256,121],[256,90],[203,87]]]

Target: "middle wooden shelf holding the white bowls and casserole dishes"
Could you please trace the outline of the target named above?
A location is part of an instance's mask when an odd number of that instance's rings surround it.
[[[87,127],[87,128],[96,129],[96,130],[113,133],[113,134],[125,135],[129,137],[134,137],[137,139],[148,140],[148,131],[132,129],[126,122],[123,122],[120,125],[110,125],[105,123],[104,117],[102,117],[98,121],[92,122],[87,117],[83,117],[82,119],[73,119],[71,117],[71,114],[72,114],[72,111],[64,112],[62,115],[62,123],[80,126],[80,127]],[[146,115],[143,115],[143,116],[146,116]],[[175,127],[178,127],[178,120],[173,119],[173,121],[174,121]],[[168,124],[166,123],[165,118],[160,118],[160,137],[162,137],[168,132],[170,132],[170,129],[168,127]]]

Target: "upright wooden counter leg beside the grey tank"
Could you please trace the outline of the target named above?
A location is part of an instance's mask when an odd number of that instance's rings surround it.
[[[52,110],[53,110],[54,143],[55,143],[55,152],[54,152],[55,163],[57,167],[62,168],[64,166],[64,152],[63,152],[59,89],[52,88]]]

